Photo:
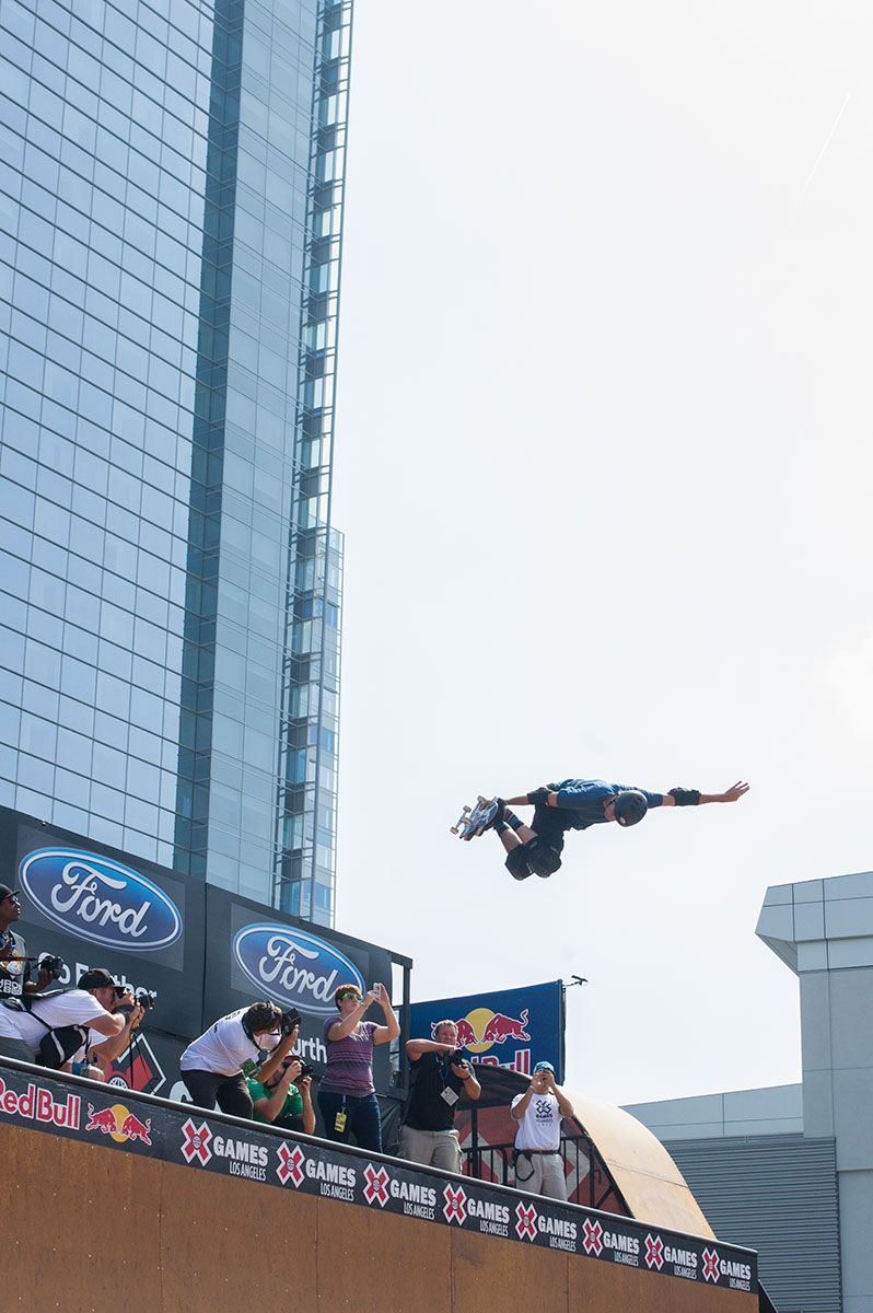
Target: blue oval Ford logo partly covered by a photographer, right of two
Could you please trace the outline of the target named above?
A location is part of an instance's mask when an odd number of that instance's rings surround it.
[[[364,977],[348,957],[291,926],[244,926],[234,957],[259,990],[302,1012],[332,1016],[339,985],[353,982],[364,993]]]

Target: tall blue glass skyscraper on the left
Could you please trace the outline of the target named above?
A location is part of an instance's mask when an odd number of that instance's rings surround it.
[[[0,802],[322,924],[351,11],[0,5]]]

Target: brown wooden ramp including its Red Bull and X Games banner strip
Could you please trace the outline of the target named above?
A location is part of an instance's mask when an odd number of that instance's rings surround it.
[[[756,1255],[706,1236],[12,1060],[0,1060],[0,1162],[9,1306],[759,1308]]]

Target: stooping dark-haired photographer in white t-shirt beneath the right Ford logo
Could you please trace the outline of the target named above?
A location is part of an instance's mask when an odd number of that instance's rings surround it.
[[[297,1044],[299,1014],[282,1012],[274,1003],[252,1003],[222,1016],[189,1044],[179,1066],[198,1108],[214,1108],[234,1117],[252,1116],[247,1077],[269,1081]]]

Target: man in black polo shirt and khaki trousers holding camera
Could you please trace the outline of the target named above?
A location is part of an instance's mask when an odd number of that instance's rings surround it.
[[[458,1049],[454,1022],[438,1022],[432,1040],[407,1040],[412,1092],[400,1127],[400,1154],[425,1167],[461,1171],[461,1144],[454,1129],[458,1100],[478,1099],[482,1086]]]

